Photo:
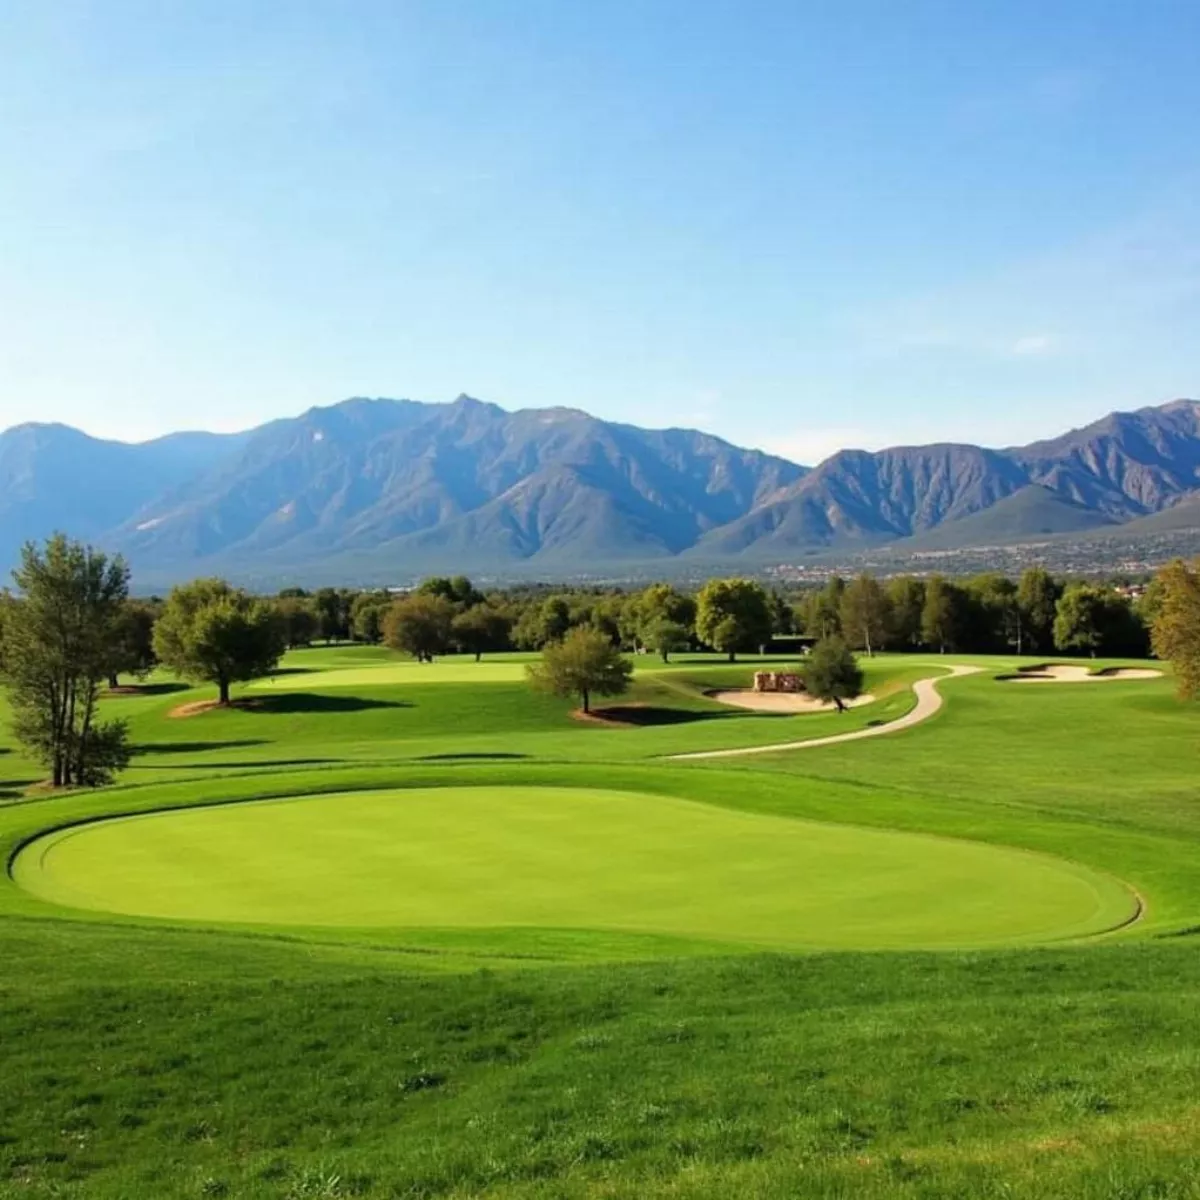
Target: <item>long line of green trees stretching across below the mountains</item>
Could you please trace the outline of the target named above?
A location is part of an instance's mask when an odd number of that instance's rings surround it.
[[[120,558],[56,535],[24,547],[12,589],[0,593],[0,682],[13,733],[55,786],[103,784],[127,764],[125,722],[97,712],[106,685],[145,678],[161,664],[215,685],[217,702],[228,704],[234,684],[270,673],[288,648],[317,641],[382,644],[420,661],[541,650],[544,679],[576,670],[560,649],[570,641],[572,653],[602,659],[598,694],[628,682],[616,665],[624,652],[670,660],[709,649],[734,661],[788,635],[869,655],[1153,650],[1175,664],[1184,696],[1200,694],[1200,563],[1170,564],[1136,598],[1037,568],[1019,580],[863,574],[792,593],[746,578],[710,580],[695,593],[667,583],[482,592],[466,576],[436,576],[406,593],[289,588],[259,596],[208,578],[166,599],[138,600],[128,586]],[[574,637],[578,631],[587,637]],[[551,672],[556,655],[565,665]],[[578,690],[587,707],[590,689]]]

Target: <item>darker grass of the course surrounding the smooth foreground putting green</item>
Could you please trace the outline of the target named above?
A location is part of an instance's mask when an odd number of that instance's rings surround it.
[[[1200,709],[1169,678],[1013,688],[996,677],[1019,660],[974,661],[984,673],[943,685],[916,728],[714,763],[659,756],[889,719],[942,660],[869,661],[880,700],[841,718],[704,697],[744,685],[752,660],[640,660],[636,716],[607,728],[518,678],[428,685],[472,664],[418,684],[383,652],[332,647],[289,655],[298,673],[247,691],[251,709],[169,719],[211,691],[166,678],[106,700],[139,754],[97,794],[26,797],[37,769],[0,746],[8,858],[112,814],[188,810],[125,823],[146,829],[293,808],[194,809],[215,800],[599,787],[788,838],[826,822],[893,846],[906,832],[983,857],[1043,852],[1146,902],[1136,924],[1072,947],[796,955],[632,929],[197,928],[4,881],[0,1194],[1194,1200]],[[364,682],[312,685],[336,671]],[[328,822],[308,833],[332,848]],[[667,848],[694,853],[684,841]],[[704,892],[722,866],[680,906],[719,914]],[[454,877],[436,882],[466,904]]]

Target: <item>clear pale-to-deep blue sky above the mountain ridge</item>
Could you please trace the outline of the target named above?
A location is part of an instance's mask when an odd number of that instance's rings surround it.
[[[1200,394],[1200,6],[0,0],[0,426],[816,461]]]

